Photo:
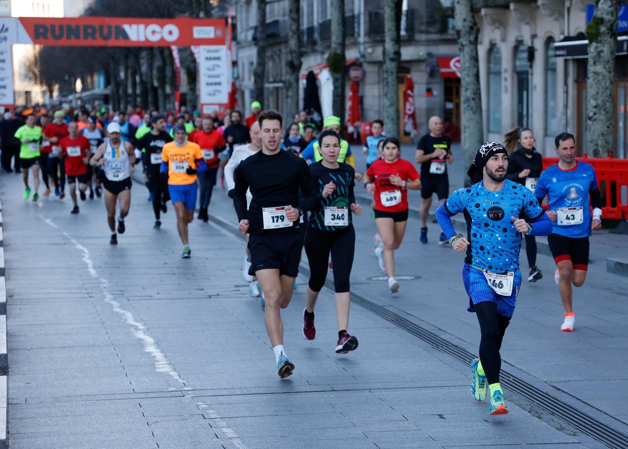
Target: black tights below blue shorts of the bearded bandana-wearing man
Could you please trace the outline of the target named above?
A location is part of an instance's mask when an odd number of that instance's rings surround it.
[[[499,382],[499,370],[502,359],[499,349],[511,317],[504,317],[497,313],[497,304],[492,301],[482,301],[474,304],[475,315],[480,323],[480,361],[490,384]]]

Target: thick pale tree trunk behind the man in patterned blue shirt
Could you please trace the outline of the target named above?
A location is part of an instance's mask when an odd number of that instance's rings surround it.
[[[477,54],[479,29],[472,11],[472,0],[454,0],[454,20],[460,47],[460,97],[462,98],[462,150],[465,173],[471,166],[484,138],[482,130],[482,98],[480,97],[480,65]],[[470,185],[465,176],[465,186]]]

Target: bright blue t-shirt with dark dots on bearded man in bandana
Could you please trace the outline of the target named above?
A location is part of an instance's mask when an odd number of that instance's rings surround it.
[[[463,212],[467,221],[465,263],[495,273],[513,272],[519,268],[521,233],[511,216],[526,214],[535,221],[545,213],[534,193],[517,182],[504,181],[504,188],[490,192],[480,181],[458,189],[447,201],[445,209],[454,215]]]

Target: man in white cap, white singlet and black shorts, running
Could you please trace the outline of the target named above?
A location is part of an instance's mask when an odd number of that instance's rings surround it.
[[[105,206],[107,208],[107,223],[111,230],[110,245],[117,245],[116,234],[116,201],[120,200],[120,216],[117,231],[124,233],[124,217],[129,214],[131,206],[131,175],[135,171],[135,154],[133,145],[120,140],[120,125],[111,122],[107,125],[109,140],[99,145],[96,154],[89,164],[92,167],[102,167],[105,188]]]

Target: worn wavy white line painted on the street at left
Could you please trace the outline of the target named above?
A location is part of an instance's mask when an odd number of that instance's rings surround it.
[[[46,223],[50,224],[50,226],[52,226],[53,228],[57,230],[59,229],[59,226],[57,226],[57,224],[55,224],[55,222],[52,221],[52,219],[45,218],[41,214],[40,214],[40,218],[43,219],[43,221],[45,221]],[[153,337],[151,337],[150,335],[146,334],[146,332],[144,332],[144,330],[146,330],[146,326],[137,322],[134,319],[133,314],[131,314],[131,312],[129,312],[128,310],[122,309],[120,307],[119,302],[113,299],[113,296],[111,295],[111,293],[109,293],[109,281],[98,275],[98,272],[94,268],[94,262],[89,256],[89,250],[85,248],[85,246],[78,243],[78,241],[76,241],[67,232],[63,231],[63,236],[65,236],[65,238],[70,240],[70,242],[72,242],[72,244],[74,245],[75,248],[77,248],[78,251],[81,251],[83,253],[83,261],[85,262],[85,265],[87,265],[87,270],[89,271],[89,274],[93,278],[99,280],[100,282],[100,290],[102,290],[102,294],[104,295],[105,302],[111,304],[114,312],[117,312],[118,314],[122,315],[122,317],[124,317],[124,319],[126,320],[126,323],[131,325],[131,332],[133,332],[133,335],[135,335],[136,337],[138,337],[138,339],[143,341],[144,351],[148,352],[149,354],[151,354],[151,356],[153,356],[155,371],[165,372],[166,374],[170,374],[170,376],[172,376],[173,379],[183,384],[185,381],[181,379],[181,377],[177,374],[177,372],[172,367],[170,362],[168,362],[168,359],[166,359],[166,357],[163,355],[163,352],[161,352],[161,350],[157,347],[157,344],[154,341]],[[0,250],[1,249],[2,248],[0,248]],[[191,388],[187,386],[183,388],[183,390],[189,390],[189,389]],[[197,405],[207,406],[206,404],[203,404],[203,403],[197,403]],[[246,445],[237,438],[236,431],[227,427],[227,423],[225,423],[225,421],[223,421],[222,418],[220,418],[220,416],[214,410],[207,410],[205,414],[207,414],[210,418],[217,420],[215,421],[215,425],[219,426],[220,431],[224,433],[225,437],[229,438],[229,443],[231,443],[232,445],[236,446],[239,449],[247,449]]]

